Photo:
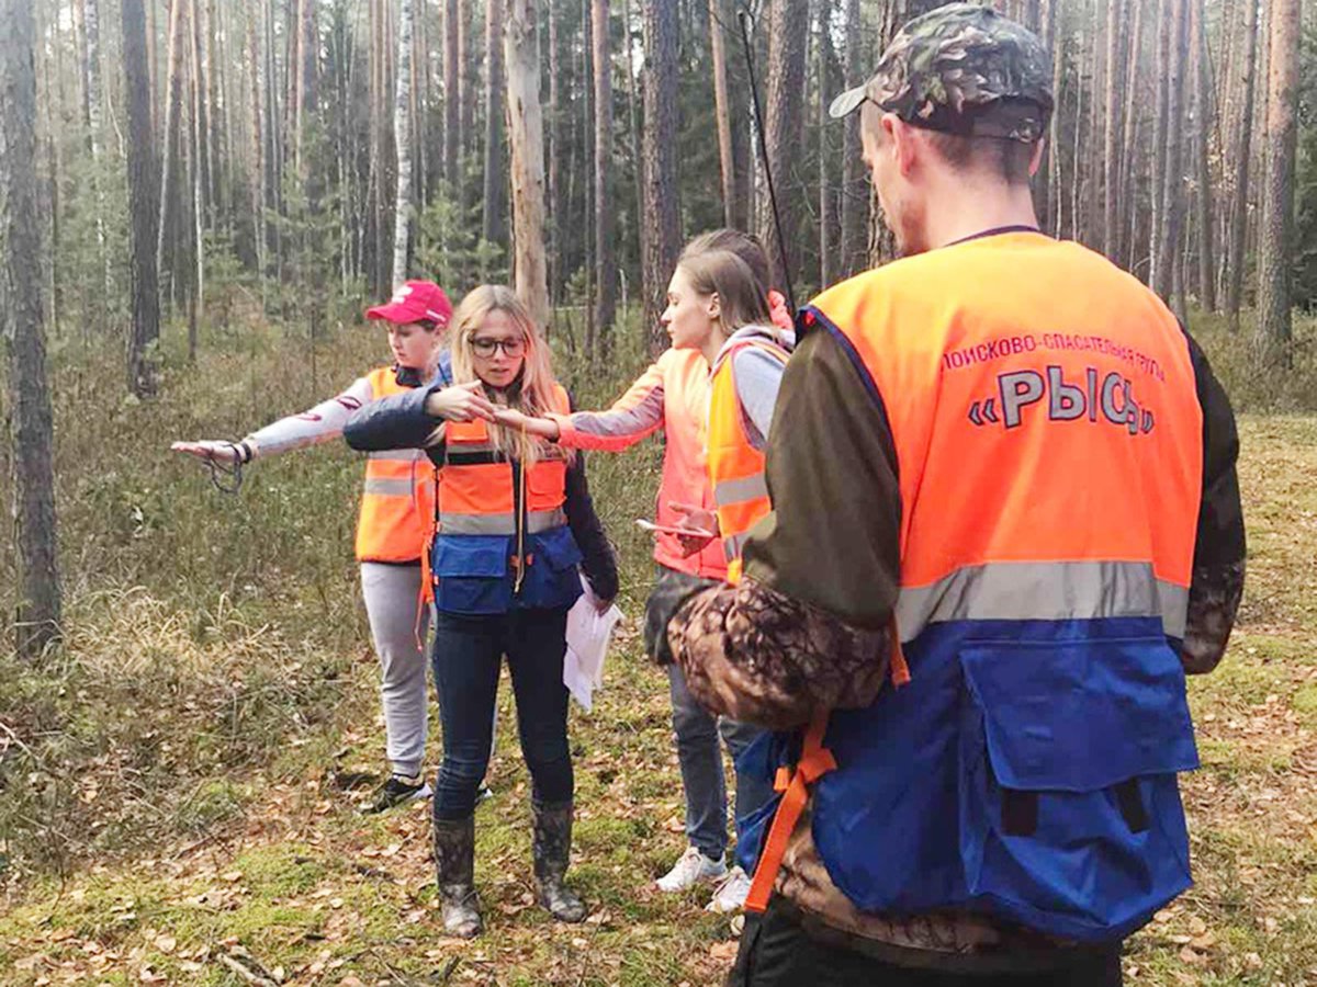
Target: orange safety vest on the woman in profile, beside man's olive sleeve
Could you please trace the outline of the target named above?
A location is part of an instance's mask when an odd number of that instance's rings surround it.
[[[740,400],[736,396],[736,353],[755,346],[784,365],[788,353],[768,340],[732,342],[714,362],[709,386],[709,482],[714,488],[718,533],[727,559],[727,582],[741,578],[741,546],[749,529],[772,511],[764,479],[764,453],[745,436]]]

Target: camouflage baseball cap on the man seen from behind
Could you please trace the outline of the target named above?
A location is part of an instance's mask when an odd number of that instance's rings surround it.
[[[865,100],[907,124],[1031,143],[1052,112],[1051,58],[1038,36],[990,7],[947,4],[915,17],[888,45],[864,86],[828,109]]]

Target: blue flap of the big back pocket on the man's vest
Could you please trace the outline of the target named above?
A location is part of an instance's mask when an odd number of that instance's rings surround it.
[[[1164,637],[976,644],[960,662],[1006,788],[1092,792],[1198,766]]]

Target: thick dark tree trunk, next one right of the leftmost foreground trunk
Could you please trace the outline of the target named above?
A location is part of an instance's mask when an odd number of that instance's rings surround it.
[[[179,3],[182,0],[178,0]],[[21,0],[18,0],[21,3]],[[159,197],[151,159],[151,91],[146,78],[146,25],[142,0],[124,0],[124,105],[128,116],[129,253],[133,275],[133,324],[128,341],[128,387],[138,397],[155,393],[151,346],[159,338],[157,275]]]

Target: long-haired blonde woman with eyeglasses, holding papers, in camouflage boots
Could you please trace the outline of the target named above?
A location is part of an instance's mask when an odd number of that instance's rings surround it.
[[[344,429],[353,449],[424,447],[436,470],[431,566],[432,665],[444,728],[435,786],[435,867],[445,929],[482,929],[474,888],[474,808],[490,757],[490,721],[506,654],[522,755],[532,780],[532,850],[540,903],[585,919],[564,883],[572,849],[573,774],[562,684],[568,609],[618,594],[612,549],[579,455],[495,424],[499,408],[568,413],[549,349],[511,288],[481,286],[453,317],[452,387],[378,401]]]

